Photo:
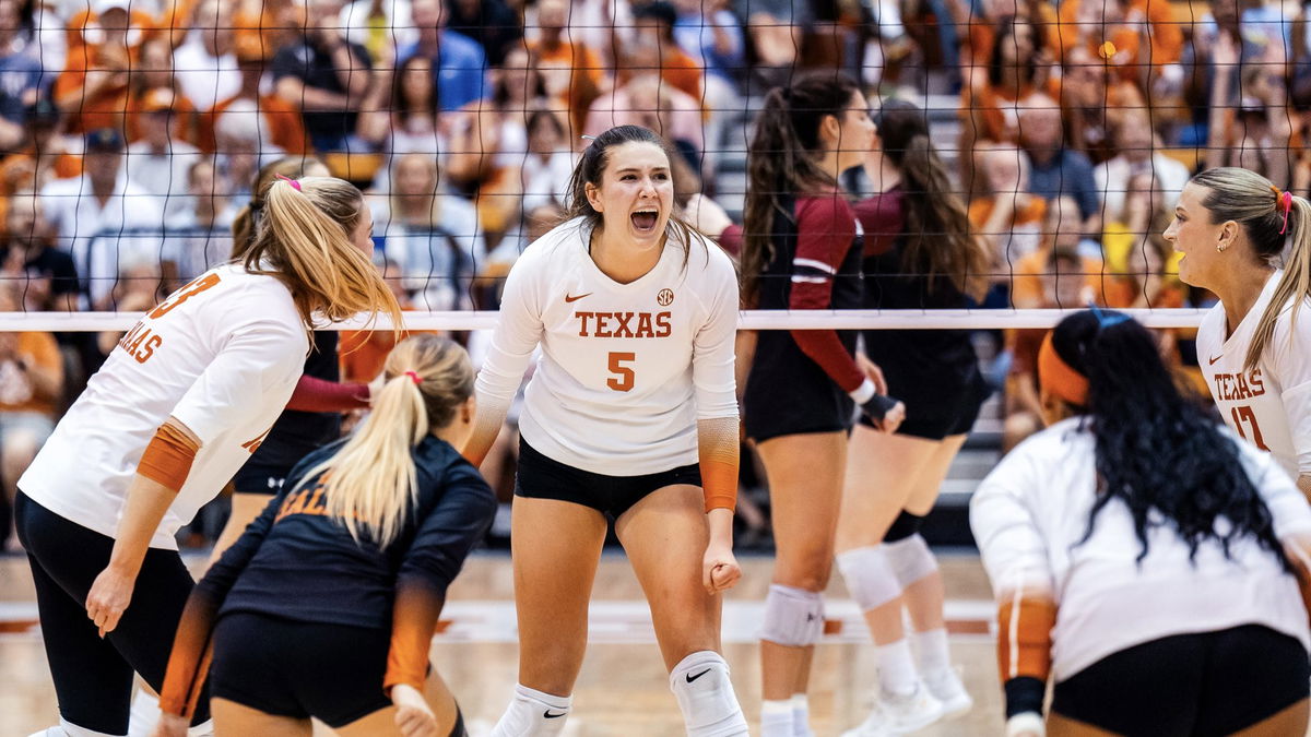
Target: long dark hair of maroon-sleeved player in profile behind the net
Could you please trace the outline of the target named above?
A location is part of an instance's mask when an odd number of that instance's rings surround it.
[[[780,195],[838,186],[819,167],[819,125],[842,117],[859,88],[842,73],[814,73],[764,96],[747,149],[742,212],[742,303],[759,300],[760,274],[773,258],[773,218],[793,218]]]

